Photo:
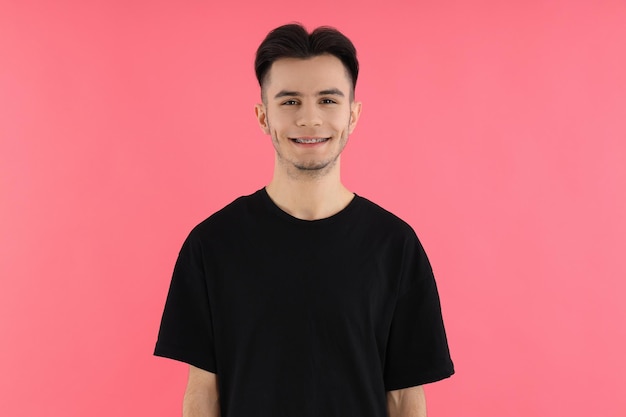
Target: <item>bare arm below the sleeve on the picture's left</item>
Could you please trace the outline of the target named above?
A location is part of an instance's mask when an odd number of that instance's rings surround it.
[[[219,417],[217,375],[189,365],[183,417]]]

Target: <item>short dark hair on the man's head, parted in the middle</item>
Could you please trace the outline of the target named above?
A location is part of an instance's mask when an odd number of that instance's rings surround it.
[[[267,34],[256,52],[254,70],[263,94],[263,84],[272,64],[281,58],[313,58],[329,54],[344,65],[352,82],[353,98],[359,75],[356,48],[343,33],[330,26],[320,26],[309,33],[299,23],[279,26]]]

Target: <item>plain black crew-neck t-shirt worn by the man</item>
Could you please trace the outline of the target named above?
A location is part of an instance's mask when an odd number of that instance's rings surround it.
[[[155,354],[216,373],[222,417],[383,417],[386,391],[454,373],[409,225],[360,196],[300,220],[265,189],[192,230]]]

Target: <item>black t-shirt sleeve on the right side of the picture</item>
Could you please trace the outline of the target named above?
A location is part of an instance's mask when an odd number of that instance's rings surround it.
[[[405,246],[401,274],[386,349],[387,391],[435,382],[454,373],[437,285],[417,237]]]

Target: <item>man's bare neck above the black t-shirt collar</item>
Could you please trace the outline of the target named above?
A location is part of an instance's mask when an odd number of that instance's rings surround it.
[[[267,194],[281,210],[302,220],[318,220],[343,210],[354,194],[342,183],[339,161],[335,169],[324,175],[287,174],[274,168],[272,181],[265,187]]]

